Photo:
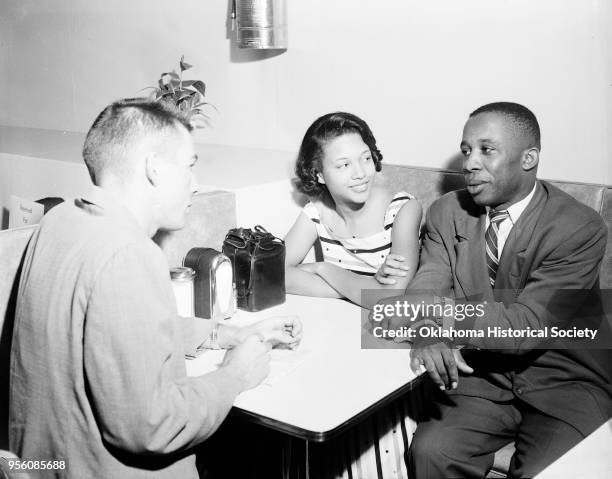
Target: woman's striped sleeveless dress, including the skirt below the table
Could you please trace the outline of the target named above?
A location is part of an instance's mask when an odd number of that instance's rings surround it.
[[[391,251],[395,216],[414,197],[396,193],[385,211],[381,231],[364,238],[338,238],[322,223],[313,203],[304,213],[317,228],[323,259],[356,274],[374,276]],[[406,365],[409,367],[409,365]],[[409,397],[401,397],[325,444],[315,466],[316,477],[342,479],[408,479],[406,457],[416,429]],[[318,467],[317,467],[318,466]]]

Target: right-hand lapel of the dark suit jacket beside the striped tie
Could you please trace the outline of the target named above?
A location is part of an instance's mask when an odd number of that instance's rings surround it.
[[[540,217],[547,194],[540,182],[531,201],[521,214],[516,224],[510,230],[501,258],[497,268],[497,279],[495,289],[522,288],[526,278],[525,255],[529,241],[533,235],[535,225]]]

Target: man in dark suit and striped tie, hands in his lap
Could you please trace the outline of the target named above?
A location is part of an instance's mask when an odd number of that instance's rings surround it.
[[[589,338],[551,337],[553,326],[574,331],[601,322],[593,298],[606,230],[595,211],[536,179],[540,131],[524,106],[474,111],[461,151],[467,189],[429,209],[404,299],[423,301],[427,291],[435,295],[430,304],[477,303],[483,314],[435,319],[447,331],[483,335],[414,345],[413,367],[423,365],[447,392],[418,425],[413,477],[484,477],[495,451],[511,441],[510,476],[532,477],[611,416],[610,352]],[[526,333],[497,337],[490,327]]]

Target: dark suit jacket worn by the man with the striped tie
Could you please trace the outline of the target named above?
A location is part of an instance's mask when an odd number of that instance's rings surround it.
[[[408,295],[434,290],[486,301],[474,329],[550,330],[575,321],[581,328],[601,326],[606,334],[598,275],[607,233],[594,210],[538,182],[506,241],[494,289],[485,258],[485,221],[485,208],[466,190],[437,200],[428,211],[420,266]],[[475,372],[463,375],[451,394],[499,401],[520,397],[588,434],[612,415],[612,356],[592,342],[583,345],[588,349],[541,338],[472,338],[464,357]]]

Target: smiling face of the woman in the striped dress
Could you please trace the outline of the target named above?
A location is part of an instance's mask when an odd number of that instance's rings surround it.
[[[317,180],[327,187],[336,203],[365,203],[375,174],[372,153],[359,133],[337,136],[323,147]]]

